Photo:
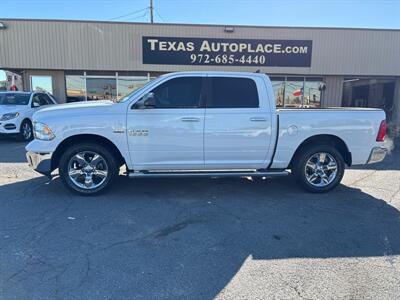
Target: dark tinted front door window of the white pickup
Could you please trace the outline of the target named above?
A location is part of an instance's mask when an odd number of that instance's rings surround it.
[[[201,77],[182,77],[164,82],[152,90],[155,108],[197,108],[200,106]]]

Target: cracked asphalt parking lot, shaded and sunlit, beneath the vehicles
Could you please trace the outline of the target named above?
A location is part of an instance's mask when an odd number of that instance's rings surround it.
[[[136,179],[79,197],[0,140],[1,299],[398,299],[400,151],[291,178]]]

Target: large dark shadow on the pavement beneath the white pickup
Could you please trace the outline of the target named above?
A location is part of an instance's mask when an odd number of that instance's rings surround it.
[[[249,256],[400,254],[399,211],[344,185],[309,194],[291,178],[121,177],[79,197],[37,177],[0,194],[5,298],[211,299]]]

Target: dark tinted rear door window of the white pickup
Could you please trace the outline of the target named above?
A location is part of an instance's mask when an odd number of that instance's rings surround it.
[[[253,108],[259,106],[258,91],[249,78],[212,77],[209,108]]]

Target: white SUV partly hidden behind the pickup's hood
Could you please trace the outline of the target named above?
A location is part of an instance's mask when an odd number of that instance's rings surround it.
[[[46,92],[0,92],[0,135],[32,140],[33,113],[54,104],[56,100]]]

